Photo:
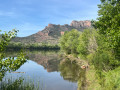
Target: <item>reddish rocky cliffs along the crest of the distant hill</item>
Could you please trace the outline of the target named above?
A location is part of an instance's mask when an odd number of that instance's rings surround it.
[[[83,31],[85,28],[91,27],[91,21],[72,21],[70,25],[55,25],[55,24],[48,24],[45,29],[42,31],[43,33],[47,34],[48,36],[52,37],[59,37],[63,35],[65,31],[70,31],[72,29],[77,29],[79,31]],[[38,32],[39,33],[39,32]]]

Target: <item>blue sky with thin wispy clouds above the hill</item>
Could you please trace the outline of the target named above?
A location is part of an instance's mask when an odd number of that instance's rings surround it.
[[[0,0],[0,30],[19,30],[25,37],[43,30],[49,23],[70,24],[92,20],[100,0]]]

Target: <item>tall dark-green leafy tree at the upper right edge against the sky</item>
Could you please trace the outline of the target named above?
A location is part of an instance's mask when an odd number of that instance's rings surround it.
[[[120,0],[101,0],[95,26],[109,48],[120,58]]]

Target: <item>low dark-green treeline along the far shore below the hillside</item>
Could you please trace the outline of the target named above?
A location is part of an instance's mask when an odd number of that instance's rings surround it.
[[[7,50],[20,50],[20,49],[29,49],[29,50],[59,50],[58,45],[50,44],[22,44],[22,43],[12,43],[10,42],[7,46]]]

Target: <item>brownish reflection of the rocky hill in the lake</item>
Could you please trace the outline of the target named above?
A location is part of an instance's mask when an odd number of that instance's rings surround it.
[[[29,59],[42,65],[48,72],[58,71],[58,65],[60,63],[59,53],[29,53]]]

